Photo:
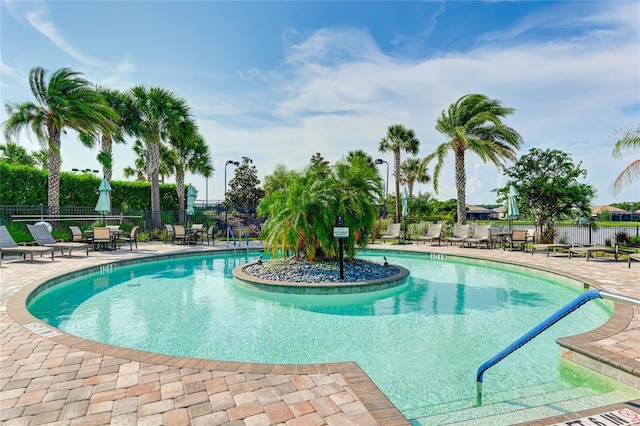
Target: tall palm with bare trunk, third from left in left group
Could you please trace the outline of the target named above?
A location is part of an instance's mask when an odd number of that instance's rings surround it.
[[[192,119],[191,112],[184,99],[158,87],[136,86],[131,89],[131,96],[131,133],[140,138],[147,148],[147,170],[151,176],[151,224],[154,229],[160,229],[160,146],[169,140],[172,131],[178,131],[181,123]]]

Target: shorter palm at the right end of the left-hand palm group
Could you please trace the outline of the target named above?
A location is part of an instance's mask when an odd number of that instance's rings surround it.
[[[185,121],[177,132],[171,132],[167,156],[168,169],[176,176],[178,193],[178,217],[184,219],[184,176],[186,172],[203,176],[213,171],[209,146],[198,133],[198,127],[192,121]]]

